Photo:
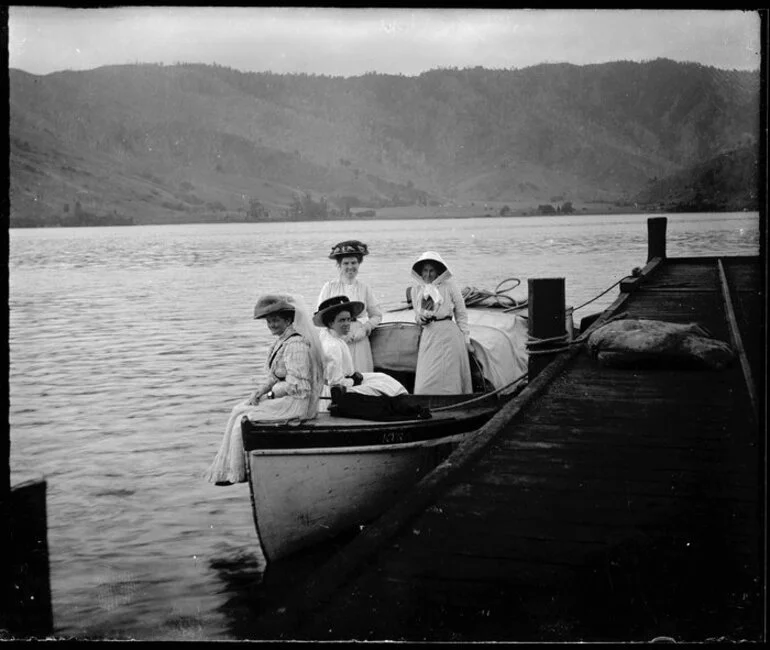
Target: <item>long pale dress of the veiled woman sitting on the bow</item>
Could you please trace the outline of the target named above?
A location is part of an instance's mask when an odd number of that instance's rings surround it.
[[[271,346],[265,359],[267,378],[262,388],[280,386],[282,397],[263,399],[250,405],[249,399],[233,407],[225,426],[224,437],[214,461],[206,473],[211,483],[243,483],[246,463],[241,435],[241,419],[253,421],[309,420],[319,408],[321,383],[314,369],[310,343],[292,326],[286,328]]]

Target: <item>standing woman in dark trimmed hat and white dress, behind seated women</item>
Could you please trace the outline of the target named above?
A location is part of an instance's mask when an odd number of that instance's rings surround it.
[[[382,310],[374,297],[371,288],[358,279],[358,269],[369,254],[369,249],[363,242],[356,239],[343,241],[332,246],[329,257],[337,261],[338,280],[330,280],[318,295],[318,303],[334,296],[347,296],[350,300],[364,303],[364,310],[350,324],[350,333],[344,341],[350,347],[353,357],[353,367],[358,372],[372,372],[372,348],[369,345],[369,334],[382,322]],[[363,318],[362,318],[363,316]]]

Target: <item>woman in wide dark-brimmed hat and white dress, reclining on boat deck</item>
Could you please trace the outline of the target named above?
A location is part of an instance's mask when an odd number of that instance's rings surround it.
[[[313,314],[313,323],[321,330],[321,345],[326,354],[324,379],[326,386],[322,396],[331,395],[332,387],[362,395],[407,394],[398,381],[382,372],[359,373],[353,367],[353,357],[344,337],[350,331],[350,323],[364,309],[364,303],[351,301],[347,296],[334,296],[324,300]],[[322,400],[321,409],[328,409],[329,400]]]

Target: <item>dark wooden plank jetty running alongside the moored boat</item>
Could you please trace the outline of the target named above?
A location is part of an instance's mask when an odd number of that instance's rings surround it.
[[[661,238],[662,232],[662,238]],[[650,255],[592,324],[698,322],[722,371],[572,346],[271,612],[262,639],[764,640],[764,269]]]

